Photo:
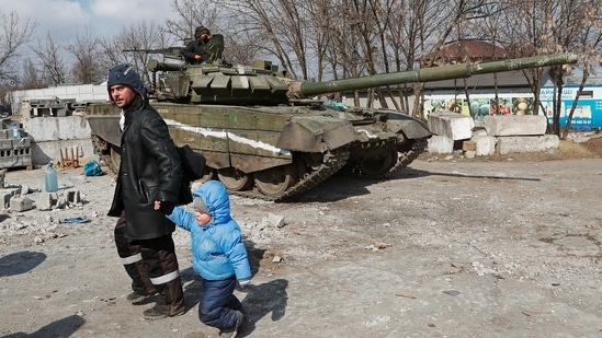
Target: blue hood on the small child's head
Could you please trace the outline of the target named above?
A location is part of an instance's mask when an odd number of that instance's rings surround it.
[[[203,199],[215,223],[225,223],[230,220],[230,199],[222,182],[207,180],[192,195]]]

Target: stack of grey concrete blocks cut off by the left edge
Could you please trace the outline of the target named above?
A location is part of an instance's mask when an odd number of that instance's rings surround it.
[[[10,119],[2,120],[0,130],[0,168],[26,167],[32,168],[32,141],[23,129],[18,129],[14,136]]]

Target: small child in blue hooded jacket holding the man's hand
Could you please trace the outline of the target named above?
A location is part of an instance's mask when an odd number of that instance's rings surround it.
[[[235,337],[247,320],[242,304],[234,295],[236,282],[245,288],[251,282],[251,268],[238,223],[230,215],[226,187],[207,180],[193,191],[194,212],[175,207],[168,218],[191,232],[192,266],[201,275],[203,298],[198,319],[218,328],[219,337]],[[160,202],[155,202],[159,209]]]

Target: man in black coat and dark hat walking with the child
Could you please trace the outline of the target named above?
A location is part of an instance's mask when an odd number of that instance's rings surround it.
[[[179,201],[180,155],[133,68],[113,67],[106,86],[122,109],[122,162],[109,215],[120,217],[115,244],[134,289],[127,298],[159,293],[157,304],[144,312],[148,319],[181,315],[185,305],[171,236],[175,225],[163,215]],[[161,210],[154,209],[155,201]]]

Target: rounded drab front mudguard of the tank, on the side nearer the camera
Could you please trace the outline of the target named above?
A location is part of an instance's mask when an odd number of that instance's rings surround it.
[[[292,151],[323,152],[357,141],[350,121],[330,117],[293,117],[284,125],[276,147]]]

